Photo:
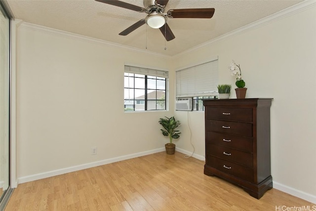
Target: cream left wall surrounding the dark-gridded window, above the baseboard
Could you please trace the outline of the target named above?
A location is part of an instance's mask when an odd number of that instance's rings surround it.
[[[173,107],[124,113],[122,87],[125,62],[168,70],[170,58],[23,23],[17,59],[19,182],[163,150],[158,120]]]

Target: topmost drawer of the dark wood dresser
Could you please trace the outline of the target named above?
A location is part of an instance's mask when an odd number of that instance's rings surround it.
[[[205,109],[205,118],[252,122],[252,108],[207,108]]]

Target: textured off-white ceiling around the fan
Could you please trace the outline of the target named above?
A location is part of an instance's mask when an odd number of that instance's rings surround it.
[[[118,33],[146,13],[95,0],[6,0],[13,15],[24,22],[104,41],[175,55],[239,27],[274,14],[302,0],[169,0],[166,11],[215,8],[211,19],[167,20],[175,39],[166,42],[159,29],[143,25],[127,36]],[[143,6],[142,0],[122,0]],[[164,49],[166,47],[166,49]]]

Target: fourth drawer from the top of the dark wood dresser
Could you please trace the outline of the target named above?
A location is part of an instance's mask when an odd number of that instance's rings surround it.
[[[218,157],[223,160],[239,163],[240,165],[243,165],[243,166],[247,166],[247,167],[253,166],[252,154],[242,152],[239,150],[217,146],[214,144],[207,144],[206,154],[210,154],[214,157]]]

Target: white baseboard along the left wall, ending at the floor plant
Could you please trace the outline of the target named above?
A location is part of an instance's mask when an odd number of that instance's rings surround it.
[[[165,148],[163,147],[163,148],[158,148],[158,149],[149,150],[149,151],[145,151],[145,152],[139,152],[139,153],[124,155],[124,156],[120,156],[120,157],[116,157],[116,158],[105,159],[102,161],[96,161],[96,162],[92,162],[92,163],[88,163],[88,164],[82,164],[82,165],[78,165],[78,166],[74,166],[74,167],[68,167],[68,168],[64,168],[64,169],[56,169],[56,170],[51,170],[51,171],[42,172],[42,173],[38,173],[38,174],[22,176],[22,177],[18,178],[18,183],[21,184],[21,183],[25,183],[25,182],[30,182],[30,181],[34,181],[34,180],[38,180],[38,179],[43,179],[43,178],[47,178],[47,177],[51,177],[51,176],[64,174],[64,173],[70,173],[70,172],[77,171],[77,170],[89,169],[92,167],[102,166],[105,164],[111,164],[111,163],[115,163],[118,161],[123,161],[123,160],[131,159],[131,158],[137,158],[140,156],[145,156],[145,155],[150,155],[150,154],[162,152],[164,150],[165,150]]]

